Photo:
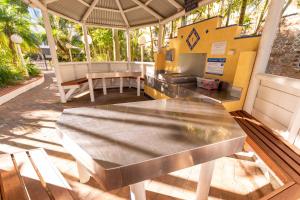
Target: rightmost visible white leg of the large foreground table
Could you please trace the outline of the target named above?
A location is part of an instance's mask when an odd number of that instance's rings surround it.
[[[210,183],[214,171],[214,162],[209,161],[200,165],[200,176],[197,185],[196,200],[207,200]]]

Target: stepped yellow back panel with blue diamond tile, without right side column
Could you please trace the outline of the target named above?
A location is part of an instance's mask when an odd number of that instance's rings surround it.
[[[243,39],[235,39],[240,36],[240,26],[229,26],[226,28],[218,28],[221,23],[220,17],[214,17],[204,20],[202,22],[188,25],[178,29],[178,37],[171,39],[169,46],[164,48],[163,51],[158,54],[158,57],[164,58],[164,52],[166,50],[175,49],[175,60],[173,62],[157,59],[157,69],[164,69],[168,71],[177,70],[179,54],[181,53],[206,53],[207,58],[226,58],[224,65],[224,75],[211,75],[205,74],[208,78],[218,78],[229,83],[233,83],[235,71],[239,59],[239,55],[243,51],[256,51],[259,44],[260,37],[250,37]],[[190,50],[186,38],[191,30],[195,28],[200,36],[200,40],[197,45]],[[208,32],[207,32],[208,31]],[[206,33],[207,32],[207,33]],[[214,42],[227,41],[226,53],[224,55],[211,55],[211,46]],[[233,55],[228,55],[229,50],[234,50]]]

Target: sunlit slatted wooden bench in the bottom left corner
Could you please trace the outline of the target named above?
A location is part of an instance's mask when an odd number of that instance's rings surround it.
[[[1,200],[72,200],[71,187],[43,149],[0,155]]]

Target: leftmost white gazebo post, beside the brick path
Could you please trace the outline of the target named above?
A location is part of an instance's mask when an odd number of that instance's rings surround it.
[[[58,65],[58,59],[57,59],[56,48],[55,48],[56,45],[55,45],[54,38],[52,35],[52,28],[51,28],[51,24],[50,24],[49,15],[48,15],[48,10],[41,9],[41,12],[43,15],[43,21],[44,21],[44,26],[45,26],[45,30],[46,30],[48,45],[50,47],[50,53],[51,53],[51,57],[52,57],[52,63],[54,66],[57,87],[58,87],[59,94],[60,94],[60,100],[62,103],[66,103],[66,94],[65,94],[63,87],[61,86],[62,79],[61,79],[60,69],[59,69],[59,65]]]

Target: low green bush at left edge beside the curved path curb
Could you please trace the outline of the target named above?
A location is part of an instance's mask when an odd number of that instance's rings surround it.
[[[23,79],[22,73],[11,69],[9,66],[0,66],[0,87],[16,84]]]

